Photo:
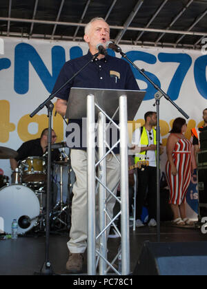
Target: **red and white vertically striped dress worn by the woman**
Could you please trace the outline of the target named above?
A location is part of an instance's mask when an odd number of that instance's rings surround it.
[[[191,142],[186,138],[180,138],[175,144],[172,158],[177,168],[177,175],[172,175],[170,162],[166,162],[166,178],[170,189],[169,204],[186,203],[186,193],[191,178],[191,147]]]

